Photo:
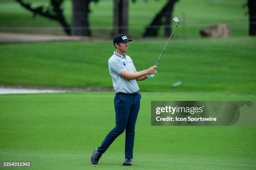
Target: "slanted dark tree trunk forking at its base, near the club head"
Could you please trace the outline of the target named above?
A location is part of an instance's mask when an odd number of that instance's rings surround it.
[[[174,7],[174,3],[177,0],[169,0],[164,7],[161,9],[160,13],[158,13],[150,25],[146,27],[145,32],[143,33],[143,37],[153,37],[158,35],[159,28],[164,24],[162,21],[165,18],[165,29],[164,35],[171,35],[171,18],[172,18],[172,10]]]

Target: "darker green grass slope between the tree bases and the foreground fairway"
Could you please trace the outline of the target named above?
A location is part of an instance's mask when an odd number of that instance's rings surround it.
[[[166,40],[134,40],[126,53],[137,71],[153,66]],[[153,79],[141,91],[256,92],[256,38],[170,41]],[[0,84],[41,87],[112,87],[112,40],[0,46]],[[182,85],[172,89],[172,84]]]

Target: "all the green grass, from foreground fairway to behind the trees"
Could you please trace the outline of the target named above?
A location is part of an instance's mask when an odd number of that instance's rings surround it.
[[[49,0],[26,2],[35,7]],[[256,38],[248,37],[246,2],[175,4],[173,17],[181,22],[157,73],[138,82],[142,98],[132,167],[122,166],[124,134],[98,165],[90,162],[93,150],[115,126],[115,92],[0,95],[0,163],[31,162],[32,168],[25,168],[31,170],[255,170],[256,126],[151,126],[155,100],[256,101]],[[165,3],[129,4],[128,37],[134,41],[126,54],[137,71],[155,65],[166,44],[162,28],[158,38],[141,38]],[[71,0],[63,8],[71,23]],[[115,50],[110,38],[113,0],[92,2],[90,9],[93,37],[86,41],[1,44],[0,86],[113,90],[108,70]],[[64,34],[58,23],[33,18],[14,0],[0,0],[0,20],[0,32]],[[200,29],[216,23],[228,23],[233,37],[199,38]],[[172,88],[178,81],[182,85]]]

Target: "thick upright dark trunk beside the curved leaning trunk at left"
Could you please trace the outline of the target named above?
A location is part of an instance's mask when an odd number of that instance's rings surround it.
[[[72,35],[91,36],[89,4],[91,0],[72,0]]]

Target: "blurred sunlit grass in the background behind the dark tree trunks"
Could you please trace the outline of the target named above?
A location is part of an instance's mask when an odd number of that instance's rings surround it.
[[[26,2],[33,2],[33,7],[48,5],[46,0],[26,0]],[[146,26],[151,23],[165,3],[166,0],[130,2],[129,35],[141,37]],[[173,16],[179,18],[179,29],[182,31],[175,32],[174,37],[199,37],[200,29],[218,23],[228,23],[233,36],[247,36],[248,15],[245,14],[246,9],[242,7],[244,4],[246,0],[179,0],[174,6]],[[71,23],[71,0],[65,0],[63,8],[67,22]],[[90,9],[89,22],[92,35],[112,37],[113,0],[92,2]],[[0,1],[0,20],[0,27],[13,27],[12,29],[3,28],[7,31],[64,34],[59,23],[39,15],[33,18],[32,13],[13,0]],[[163,29],[161,28],[160,36],[162,35]]]

